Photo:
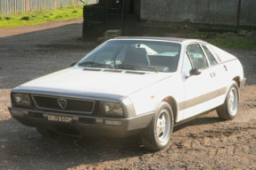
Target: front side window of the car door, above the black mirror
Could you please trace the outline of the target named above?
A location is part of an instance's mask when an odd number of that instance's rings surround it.
[[[186,52],[191,57],[191,60],[194,64],[194,68],[196,69],[206,69],[208,68],[207,60],[202,52],[202,48],[200,45],[187,45]]]

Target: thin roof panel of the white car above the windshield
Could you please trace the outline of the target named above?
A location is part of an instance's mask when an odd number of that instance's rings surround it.
[[[188,38],[179,38],[179,37],[167,37],[167,36],[120,36],[114,39],[118,40],[157,40],[157,41],[169,41],[177,43],[206,43],[200,39],[188,39]]]

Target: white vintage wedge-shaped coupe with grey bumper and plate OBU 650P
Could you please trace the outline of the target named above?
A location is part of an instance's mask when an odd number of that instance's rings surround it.
[[[201,40],[119,37],[71,66],[12,89],[12,117],[43,135],[140,134],[161,150],[174,125],[217,109],[237,114],[244,71]]]

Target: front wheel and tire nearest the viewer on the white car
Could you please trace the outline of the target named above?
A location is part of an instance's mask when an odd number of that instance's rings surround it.
[[[158,151],[164,149],[173,131],[173,112],[169,104],[161,101],[153,120],[141,134],[142,144],[147,150]]]

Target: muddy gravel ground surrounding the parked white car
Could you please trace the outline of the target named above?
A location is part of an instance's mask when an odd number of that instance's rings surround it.
[[[159,152],[145,150],[137,136],[47,139],[12,119],[7,110],[11,88],[67,68],[95,46],[80,40],[80,21],[0,29],[1,170],[256,169],[256,49],[227,49],[242,61],[248,78],[237,117],[221,121],[212,111],[179,125]]]

